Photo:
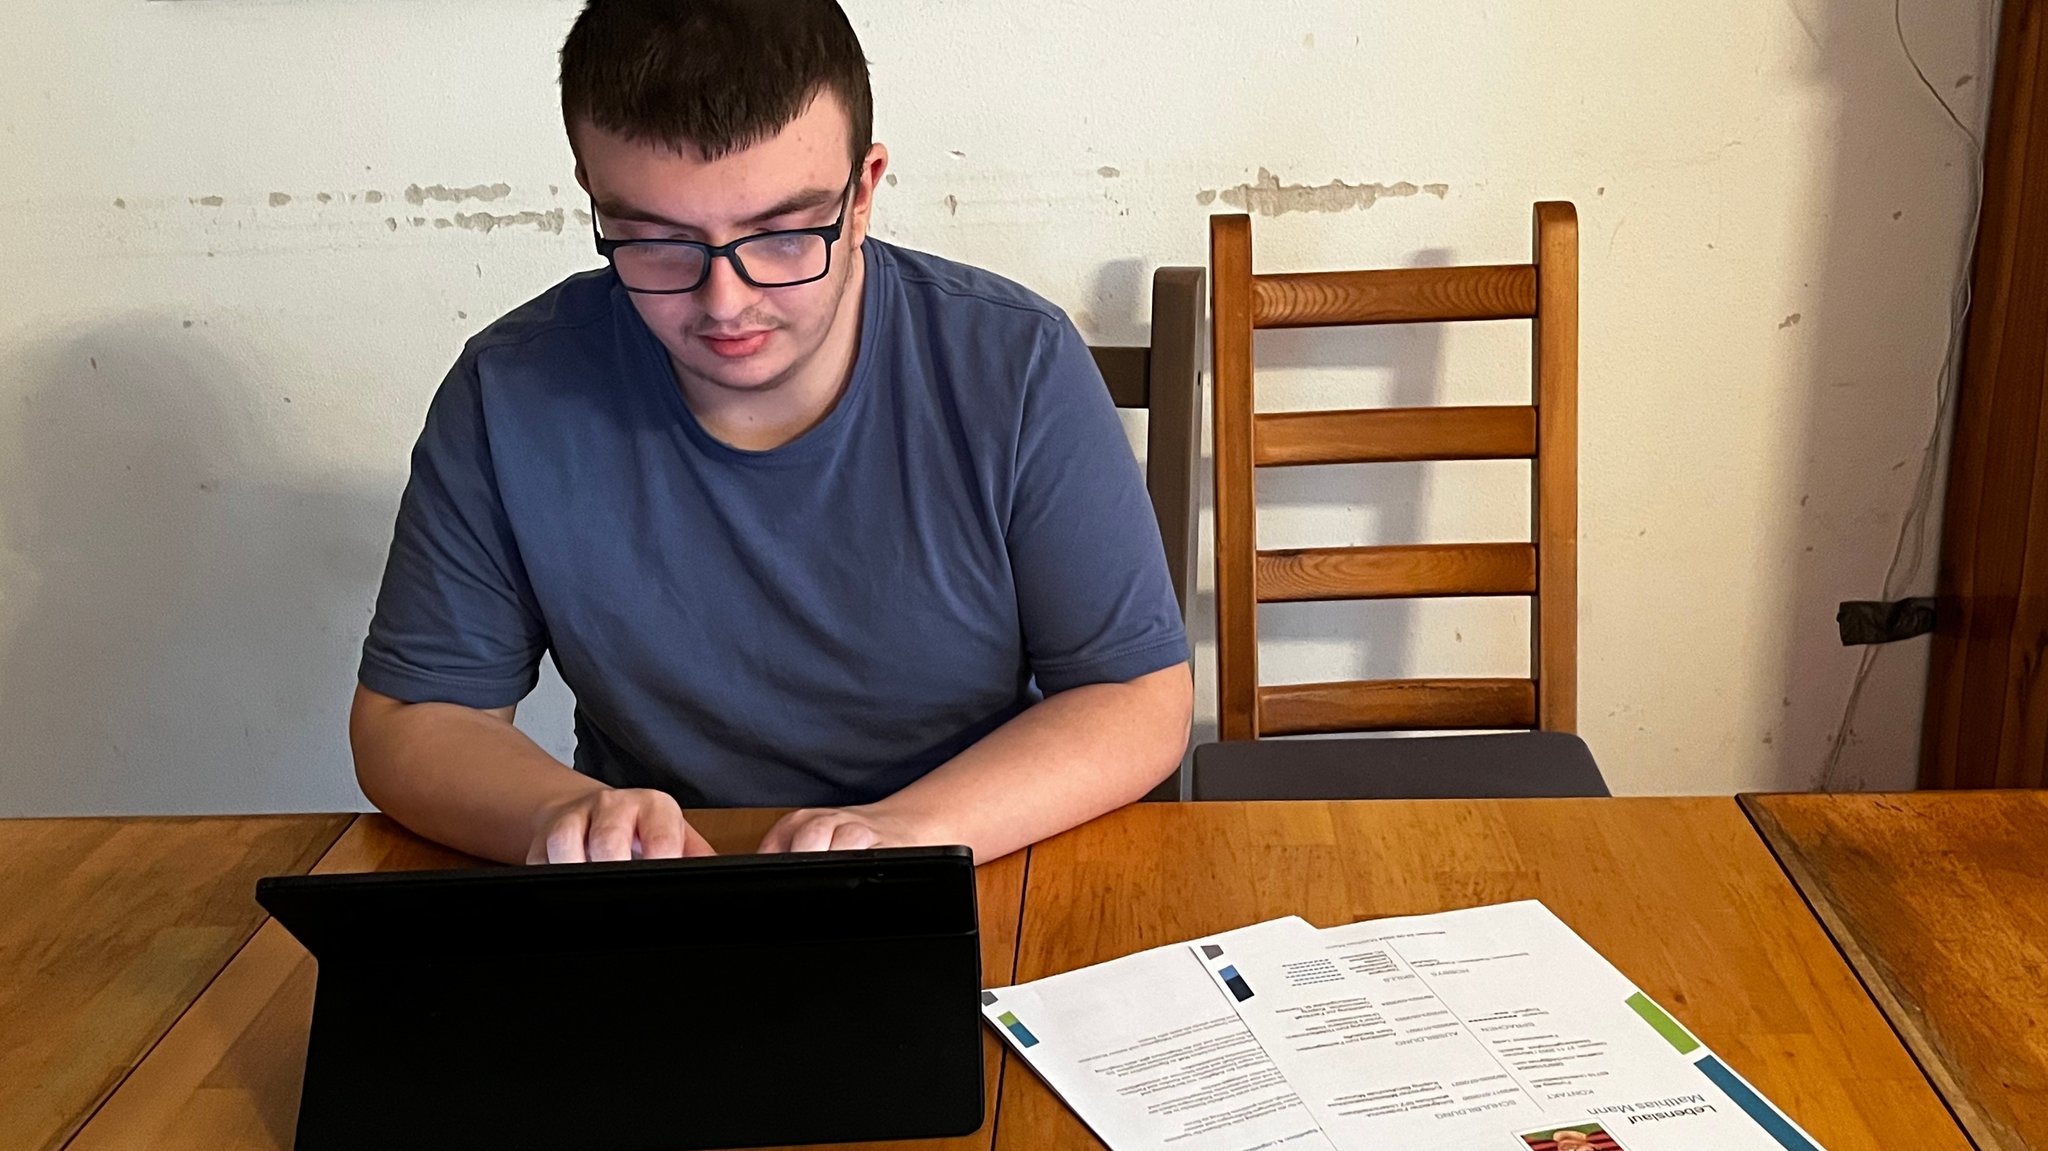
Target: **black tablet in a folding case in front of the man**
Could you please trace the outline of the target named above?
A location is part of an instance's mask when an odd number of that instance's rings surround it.
[[[299,1151],[657,1151],[981,1126],[967,848],[297,875]]]

